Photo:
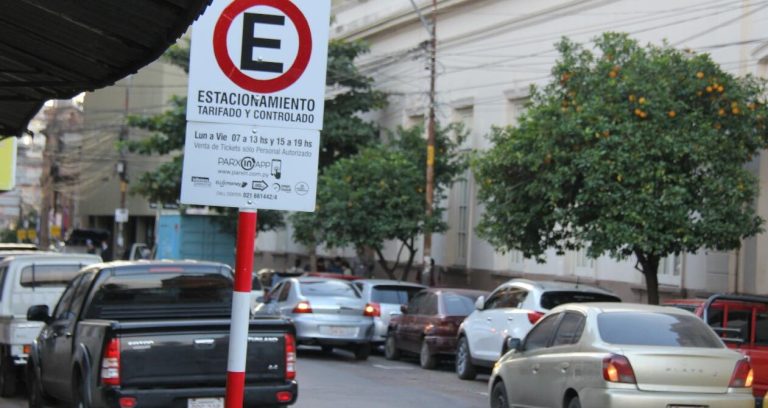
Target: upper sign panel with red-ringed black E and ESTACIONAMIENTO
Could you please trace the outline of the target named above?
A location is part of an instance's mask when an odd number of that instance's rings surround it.
[[[214,0],[192,31],[187,120],[322,129],[330,0]]]

